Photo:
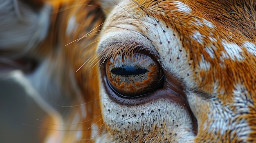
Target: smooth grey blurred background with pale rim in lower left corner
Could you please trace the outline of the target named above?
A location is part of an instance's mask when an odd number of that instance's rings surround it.
[[[47,112],[19,70],[0,73],[0,143],[40,143]]]

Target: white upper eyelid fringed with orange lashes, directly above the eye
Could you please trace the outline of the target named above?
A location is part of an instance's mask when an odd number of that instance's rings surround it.
[[[132,46],[137,46],[133,51],[146,51],[150,55],[159,57],[152,41],[143,34],[139,29],[117,29],[117,31],[109,31],[101,37],[98,45],[98,55],[100,59],[112,57],[116,51],[130,51]],[[114,54],[115,55],[115,54]]]

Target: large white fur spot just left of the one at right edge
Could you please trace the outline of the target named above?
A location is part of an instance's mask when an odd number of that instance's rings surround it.
[[[221,43],[225,49],[225,52],[221,52],[222,57],[220,57],[220,59],[222,59],[222,61],[224,61],[224,59],[232,59],[233,61],[245,59],[245,57],[241,55],[243,50],[238,46],[238,44],[228,43],[227,41],[222,41]]]

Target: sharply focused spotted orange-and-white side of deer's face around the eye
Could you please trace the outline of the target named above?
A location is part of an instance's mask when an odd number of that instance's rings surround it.
[[[247,17],[255,15],[244,4],[123,1],[109,9],[97,50],[112,141],[254,138],[255,22]]]

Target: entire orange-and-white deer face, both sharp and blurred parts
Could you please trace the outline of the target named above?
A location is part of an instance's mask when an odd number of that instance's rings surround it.
[[[0,66],[38,63],[45,142],[256,142],[253,0],[4,1]]]

